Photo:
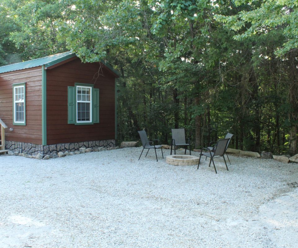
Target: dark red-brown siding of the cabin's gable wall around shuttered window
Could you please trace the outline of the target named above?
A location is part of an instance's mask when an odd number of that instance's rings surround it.
[[[67,124],[67,86],[94,84],[99,89],[99,123]],[[47,144],[115,139],[115,77],[99,63],[79,59],[47,69]]]

